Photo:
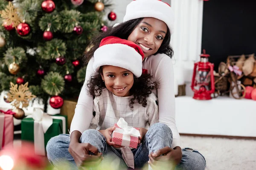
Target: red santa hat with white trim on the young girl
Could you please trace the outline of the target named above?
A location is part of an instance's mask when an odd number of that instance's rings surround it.
[[[94,52],[93,69],[98,71],[103,65],[113,65],[131,71],[136,77],[142,74],[143,51],[134,42],[119,37],[106,37]]]

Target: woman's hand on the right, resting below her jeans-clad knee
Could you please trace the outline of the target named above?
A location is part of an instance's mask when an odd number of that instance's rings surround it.
[[[161,156],[162,155],[162,156]],[[180,163],[182,158],[182,152],[180,147],[170,148],[164,147],[157,150],[155,153],[149,154],[148,163],[153,169],[159,169],[159,167],[172,167],[174,169],[177,164]]]

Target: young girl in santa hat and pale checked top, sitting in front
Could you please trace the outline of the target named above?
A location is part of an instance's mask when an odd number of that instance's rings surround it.
[[[151,76],[145,71],[142,74],[143,57],[143,51],[134,42],[113,36],[104,38],[94,53],[93,69],[96,74],[93,74],[87,84],[90,94],[96,96],[93,100],[94,117],[90,129],[98,127],[105,139],[97,130],[86,130],[82,136],[89,136],[91,133],[98,135],[97,138],[89,140],[85,138],[86,142],[94,144],[98,150],[104,146],[102,139],[108,144],[105,145],[106,148],[119,147],[111,141],[110,134],[120,118],[128,126],[140,127],[140,139],[144,138],[143,130],[147,131],[149,126],[158,122],[157,98],[151,92],[155,87]],[[103,155],[113,153],[114,147],[107,151],[104,149]],[[136,150],[133,155],[129,147],[121,147],[114,153],[120,157],[122,155],[127,166],[134,168]],[[148,156],[149,151],[138,154]],[[138,165],[137,159],[135,161]],[[140,161],[139,164],[143,163],[145,162]]]

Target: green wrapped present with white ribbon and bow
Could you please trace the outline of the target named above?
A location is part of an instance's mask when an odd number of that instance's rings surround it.
[[[47,142],[62,133],[67,133],[67,116],[51,116],[40,108],[21,121],[21,139],[34,142],[37,155],[45,156]]]

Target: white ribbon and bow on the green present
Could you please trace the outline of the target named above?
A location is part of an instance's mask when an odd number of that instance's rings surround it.
[[[41,108],[34,108],[32,115],[26,118],[34,119],[34,146],[35,154],[45,156],[44,133],[47,132],[53,123],[53,119],[62,120],[62,130],[66,133],[66,118],[63,116],[49,116]]]

